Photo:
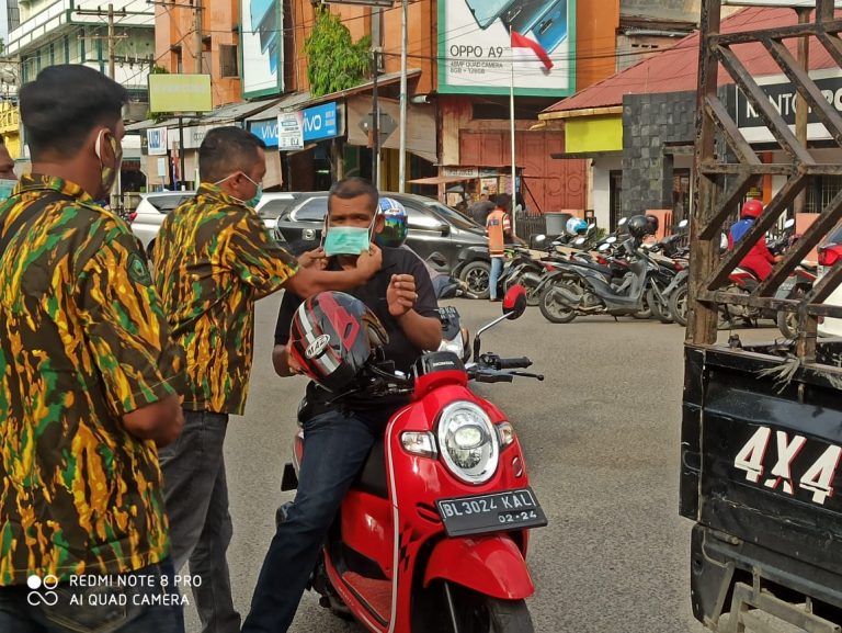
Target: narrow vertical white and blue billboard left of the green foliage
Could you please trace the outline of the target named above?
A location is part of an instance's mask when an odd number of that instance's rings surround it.
[[[277,0],[240,0],[242,95],[283,91],[283,16]]]

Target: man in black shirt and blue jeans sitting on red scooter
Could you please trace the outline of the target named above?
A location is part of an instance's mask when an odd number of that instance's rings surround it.
[[[330,270],[356,265],[383,228],[377,190],[366,180],[337,182],[328,196],[328,224],[322,252],[310,252],[308,263]],[[423,262],[412,252],[383,248],[383,265],[367,283],[348,294],[361,299],[383,324],[389,341],[386,360],[409,372],[423,350],[439,348],[442,327],[435,293]],[[284,293],[275,329],[272,362],[281,376],[298,373],[289,355],[289,326],[301,299]],[[304,428],[304,452],[298,490],[285,520],[266,552],[242,633],[282,633],[293,622],[298,601],[316,565],[325,536],[351,483],[389,418],[408,403],[340,396],[316,383],[307,385],[298,411]]]

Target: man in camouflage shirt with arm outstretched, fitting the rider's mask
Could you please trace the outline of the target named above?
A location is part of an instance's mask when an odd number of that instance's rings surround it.
[[[265,144],[240,127],[218,127],[198,149],[202,183],[171,212],[156,239],[156,285],[172,335],[186,352],[184,432],[161,451],[175,568],[190,561],[205,633],[239,633],[226,551],[231,540],[223,442],[241,416],[251,372],[254,301],[283,287],[309,296],[350,290],[380,267],[372,245],[362,270],[298,267],[254,211],[266,172]]]

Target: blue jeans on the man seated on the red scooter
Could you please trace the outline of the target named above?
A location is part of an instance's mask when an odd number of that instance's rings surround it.
[[[335,410],[304,422],[298,491],[269,545],[242,633],[289,628],[328,529],[382,432],[383,420]]]

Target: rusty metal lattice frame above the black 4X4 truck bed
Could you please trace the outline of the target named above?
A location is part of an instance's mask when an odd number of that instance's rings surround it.
[[[804,195],[813,178],[842,176],[842,163],[818,160],[807,144],[806,120],[809,106],[812,115],[827,128],[833,142],[842,148],[842,116],[829,103],[809,77],[805,58],[808,42],[823,46],[842,68],[842,20],[834,14],[832,0],[817,0],[815,8],[801,4],[793,8],[798,23],[767,30],[721,33],[720,0],[704,0],[701,20],[701,52],[698,71],[696,152],[694,169],[698,195],[691,227],[692,268],[690,279],[690,314],[686,342],[708,346],[716,342],[718,305],[741,305],[753,308],[795,312],[799,337],[794,353],[803,363],[816,362],[817,324],[821,316],[842,317],[842,307],[822,302],[842,281],[842,265],[834,267],[821,278],[810,294],[801,301],[774,297],[775,289],[788,276],[801,259],[820,245],[842,219],[842,192],[830,200],[816,222],[789,248],[783,261],[752,294],[730,292],[729,274],[753,244],[778,223],[792,208],[797,196]],[[787,47],[796,43],[796,54]],[[740,45],[760,43],[781,67],[797,90],[799,117],[794,132],[770,102],[756,79],[740,58]],[[741,134],[735,118],[717,92],[717,77],[724,69],[742,91],[751,106],[765,122],[777,147],[788,157],[786,162],[763,162]],[[749,189],[765,174],[785,177],[786,182],[774,194],[763,215],[737,245],[720,255],[720,235],[730,214],[742,202]]]

